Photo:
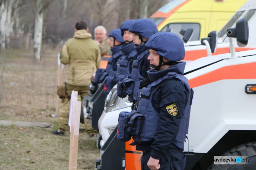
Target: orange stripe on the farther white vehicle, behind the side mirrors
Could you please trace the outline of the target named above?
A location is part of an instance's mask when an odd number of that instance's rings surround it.
[[[254,48],[235,48],[236,52],[238,51],[247,51],[247,50],[253,50]],[[212,55],[218,55],[218,54],[225,54],[230,53],[229,47],[224,48],[217,48],[215,53],[212,53]],[[203,50],[193,50],[193,51],[185,51],[185,61],[194,61],[201,57],[206,57],[207,51],[206,49]]]

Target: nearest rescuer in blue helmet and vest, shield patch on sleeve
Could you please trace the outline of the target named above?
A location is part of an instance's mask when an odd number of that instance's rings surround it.
[[[144,122],[141,132],[133,135],[132,145],[142,151],[142,170],[184,170],[183,150],[193,97],[183,75],[186,62],[180,62],[184,44],[176,34],[159,32],[148,39],[146,47],[151,70],[140,84],[143,88],[135,106]]]

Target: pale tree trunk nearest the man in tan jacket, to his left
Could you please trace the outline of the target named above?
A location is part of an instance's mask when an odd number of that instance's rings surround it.
[[[36,0],[35,10],[35,28],[34,28],[34,57],[37,60],[41,59],[41,46],[42,46],[42,34],[43,34],[43,21],[44,10],[41,0]]]

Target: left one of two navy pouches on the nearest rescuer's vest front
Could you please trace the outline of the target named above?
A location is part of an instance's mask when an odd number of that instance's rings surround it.
[[[117,138],[121,141],[127,142],[131,139],[131,135],[127,132],[127,120],[130,112],[121,112],[117,124]]]

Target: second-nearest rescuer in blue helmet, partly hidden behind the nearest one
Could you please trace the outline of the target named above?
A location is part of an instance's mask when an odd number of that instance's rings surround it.
[[[117,94],[122,98],[129,95],[129,101],[133,102],[134,105],[139,94],[139,84],[147,77],[147,70],[150,70],[150,62],[147,60],[149,53],[145,44],[158,30],[152,20],[143,18],[135,20],[128,31],[132,33],[137,55],[132,62],[132,70],[129,77],[123,76],[123,79],[119,79]]]

